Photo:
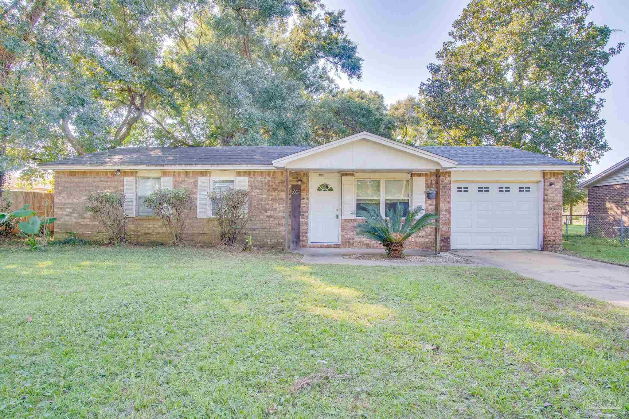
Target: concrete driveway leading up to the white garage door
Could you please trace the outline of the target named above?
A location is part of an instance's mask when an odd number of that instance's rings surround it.
[[[625,266],[534,250],[454,250],[450,253],[629,307],[629,268]]]

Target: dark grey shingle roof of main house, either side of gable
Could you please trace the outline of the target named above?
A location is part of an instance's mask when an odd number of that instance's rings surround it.
[[[126,147],[42,163],[46,166],[271,165],[309,146]],[[467,165],[571,165],[569,161],[509,147],[418,147]]]

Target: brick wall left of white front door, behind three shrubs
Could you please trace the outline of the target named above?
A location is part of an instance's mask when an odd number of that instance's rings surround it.
[[[106,236],[101,224],[85,210],[90,192],[108,190],[123,193],[125,177],[136,176],[136,171],[56,171],[55,222],[56,239],[64,239],[69,232],[94,241]],[[247,232],[255,246],[284,247],[284,171],[237,171],[237,177],[248,177],[250,191],[249,222]],[[197,178],[209,177],[209,171],[162,171],[162,176],[173,178],[174,188],[187,188],[196,202]],[[308,241],[308,173],[293,173],[291,183],[302,183],[301,232],[302,241]],[[127,222],[130,241],[134,243],[164,243],[169,241],[162,221],[157,217],[129,217]],[[303,237],[306,237],[303,239]],[[184,241],[189,244],[207,244],[220,241],[218,223],[213,218],[197,218],[196,207],[186,222]]]

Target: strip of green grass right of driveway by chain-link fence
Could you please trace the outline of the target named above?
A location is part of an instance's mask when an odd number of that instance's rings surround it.
[[[593,236],[564,236],[564,253],[579,256],[579,258],[629,266],[629,237],[625,240],[624,246],[620,246],[620,240],[618,239]]]

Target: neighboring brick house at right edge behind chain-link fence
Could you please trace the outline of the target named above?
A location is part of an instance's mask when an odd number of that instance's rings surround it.
[[[629,157],[581,183],[579,189],[587,189],[589,232],[618,236],[621,219],[623,226],[629,224]]]

